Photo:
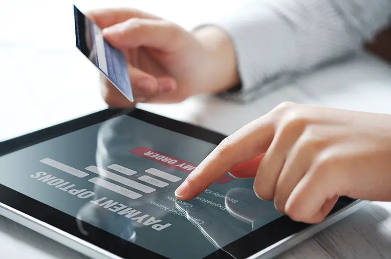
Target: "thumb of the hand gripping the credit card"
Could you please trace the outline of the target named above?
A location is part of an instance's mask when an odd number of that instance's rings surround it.
[[[117,48],[151,47],[165,52],[177,50],[187,32],[166,20],[132,18],[103,30],[103,35]]]

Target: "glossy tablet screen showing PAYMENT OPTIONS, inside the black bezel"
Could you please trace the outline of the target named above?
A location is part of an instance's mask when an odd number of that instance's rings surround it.
[[[282,216],[252,179],[228,174],[175,198],[215,147],[121,115],[2,156],[0,183],[75,217],[85,235],[90,224],[167,258],[202,259]]]

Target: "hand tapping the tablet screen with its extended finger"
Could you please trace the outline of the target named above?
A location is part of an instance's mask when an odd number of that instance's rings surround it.
[[[227,172],[255,178],[259,198],[306,223],[339,196],[389,201],[391,116],[283,103],[222,141],[176,196],[192,199]]]

